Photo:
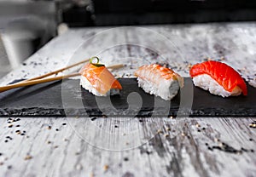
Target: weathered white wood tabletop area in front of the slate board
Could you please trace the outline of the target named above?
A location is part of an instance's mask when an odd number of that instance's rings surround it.
[[[23,117],[13,123],[13,128],[7,128],[7,118],[0,121],[2,176],[90,176],[90,173],[95,176],[255,174],[255,152],[250,150],[255,147],[256,133],[254,129],[248,128],[252,121],[250,118],[146,118],[142,121],[126,121],[121,125],[117,119],[110,117],[94,121],[82,117]],[[197,128],[196,123],[200,123],[201,128]],[[16,128],[18,124],[20,127]],[[166,130],[167,126],[171,131]],[[81,128],[82,132],[79,131]],[[102,134],[99,128],[107,129],[109,134]],[[17,129],[26,130],[26,135],[16,134]],[[162,133],[157,134],[159,129]],[[126,137],[136,130],[139,138],[129,141]],[[173,133],[173,130],[177,132]],[[6,136],[13,140],[4,143]],[[253,138],[253,141],[249,138]],[[223,140],[236,149],[243,147],[249,151],[233,154],[208,150],[206,143],[209,146],[218,145],[215,139]],[[120,147],[122,143],[123,151],[111,151],[113,146]],[[27,154],[32,159],[25,160]],[[8,169],[9,165],[12,168]],[[108,165],[108,170],[104,170],[104,165]]]

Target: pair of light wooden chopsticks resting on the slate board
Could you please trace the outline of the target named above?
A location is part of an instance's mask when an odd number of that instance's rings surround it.
[[[10,84],[10,85],[7,85],[7,86],[0,87],[0,92],[4,92],[4,91],[7,91],[7,90],[12,89],[12,88],[20,88],[20,87],[34,85],[34,84],[38,84],[38,83],[48,83],[48,82],[51,82],[51,81],[57,81],[57,80],[61,80],[61,79],[68,78],[68,77],[77,77],[77,76],[80,75],[79,72],[67,74],[67,75],[60,76],[60,77],[49,77],[49,76],[57,74],[61,71],[65,71],[65,70],[70,69],[74,66],[79,66],[79,65],[81,65],[85,62],[88,62],[89,60],[90,59],[82,60],[82,61],[80,61],[78,63],[75,63],[71,66],[63,67],[63,68],[61,68],[59,70],[56,70],[56,71],[51,71],[51,72],[46,73],[46,74],[44,74],[42,76],[39,76],[39,77],[33,77],[33,78],[30,78],[30,79],[26,79],[24,81],[21,81],[20,83],[14,83],[14,84]],[[122,64],[114,65],[114,66],[108,66],[108,69],[119,69],[123,66],[124,65],[122,65]],[[49,78],[44,78],[44,77],[49,77]]]

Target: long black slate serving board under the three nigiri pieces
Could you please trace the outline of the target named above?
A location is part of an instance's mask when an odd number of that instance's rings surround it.
[[[145,93],[135,78],[120,78],[123,90],[108,97],[90,94],[79,80],[40,83],[0,93],[0,116],[256,116],[256,88],[247,85],[247,96],[222,98],[196,88],[189,77],[184,81],[184,88],[171,101]]]

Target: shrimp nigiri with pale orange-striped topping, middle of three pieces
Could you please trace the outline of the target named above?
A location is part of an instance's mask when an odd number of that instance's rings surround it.
[[[179,88],[183,87],[183,77],[158,64],[139,67],[135,76],[139,87],[148,94],[160,96],[163,100],[172,100]]]

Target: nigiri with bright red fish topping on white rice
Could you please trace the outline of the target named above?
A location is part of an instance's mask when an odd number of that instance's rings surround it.
[[[232,67],[219,61],[205,61],[189,71],[195,86],[222,97],[247,95],[247,85]]]

